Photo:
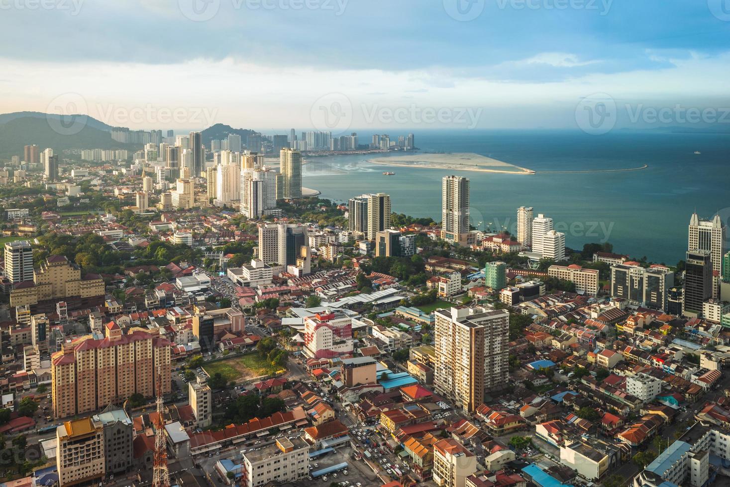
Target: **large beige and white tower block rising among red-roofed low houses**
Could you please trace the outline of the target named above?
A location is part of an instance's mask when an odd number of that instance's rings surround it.
[[[434,388],[466,412],[507,385],[510,313],[488,308],[436,311]]]

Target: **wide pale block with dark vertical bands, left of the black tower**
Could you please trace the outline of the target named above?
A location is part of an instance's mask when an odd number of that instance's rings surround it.
[[[636,262],[611,266],[611,296],[622,297],[632,305],[667,311],[669,289],[674,285],[675,273],[663,265],[648,269]]]

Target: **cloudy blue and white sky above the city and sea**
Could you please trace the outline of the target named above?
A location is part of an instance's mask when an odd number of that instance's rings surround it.
[[[730,127],[729,0],[0,0],[0,45],[0,112],[130,128]]]

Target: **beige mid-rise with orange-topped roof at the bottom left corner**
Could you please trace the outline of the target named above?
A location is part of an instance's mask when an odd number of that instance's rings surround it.
[[[65,421],[55,430],[61,487],[104,479],[104,425],[94,418]]]

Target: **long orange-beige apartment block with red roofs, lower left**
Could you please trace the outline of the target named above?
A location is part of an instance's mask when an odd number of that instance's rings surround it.
[[[135,393],[143,397],[169,393],[168,340],[140,328],[123,335],[114,322],[104,330],[106,336],[100,340],[87,335],[64,343],[61,351],[51,356],[51,394],[56,418],[121,403]]]

